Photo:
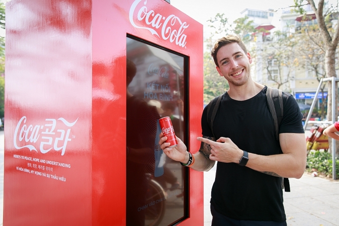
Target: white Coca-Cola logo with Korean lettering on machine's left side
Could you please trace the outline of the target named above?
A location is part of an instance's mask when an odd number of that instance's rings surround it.
[[[54,149],[55,151],[61,151],[61,155],[65,154],[67,143],[72,139],[70,138],[71,127],[76,124],[78,119],[72,123],[69,123],[64,118],[56,119],[46,119],[44,125],[26,125],[26,116],[23,116],[17,123],[14,131],[14,147],[15,149],[28,148],[29,151],[37,151],[35,144],[40,141],[38,149],[41,153],[47,153]],[[58,127],[62,129],[57,129],[55,131],[57,121],[63,123],[63,127]],[[66,128],[65,128],[66,126]],[[41,135],[41,139],[39,139]],[[73,136],[74,138],[75,136]],[[23,142],[26,142],[25,145],[20,146]]]

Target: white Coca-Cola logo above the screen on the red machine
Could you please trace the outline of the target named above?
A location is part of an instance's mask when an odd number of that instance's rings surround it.
[[[139,5],[143,1],[144,5]],[[189,26],[186,22],[182,22],[179,17],[171,14],[169,16],[163,16],[159,13],[156,13],[154,10],[148,10],[147,0],[135,0],[131,5],[129,11],[129,20],[131,24],[140,29],[149,30],[152,35],[157,35],[160,38],[158,31],[161,31],[161,37],[164,40],[168,40],[172,43],[175,42],[176,45],[184,47],[186,45],[186,35],[183,33],[185,29]],[[138,26],[133,20],[133,15],[137,13],[137,18],[139,21],[145,21],[148,26]]]

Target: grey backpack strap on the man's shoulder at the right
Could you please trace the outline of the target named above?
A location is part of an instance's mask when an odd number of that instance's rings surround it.
[[[283,94],[280,89],[267,87],[266,97],[274,121],[275,139],[279,141],[279,125],[284,116]],[[287,98],[288,96],[286,96]],[[281,177],[281,188],[285,189],[285,192],[291,191],[288,178]]]

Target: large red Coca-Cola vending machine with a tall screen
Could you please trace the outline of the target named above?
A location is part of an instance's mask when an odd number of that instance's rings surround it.
[[[4,226],[202,226],[203,27],[165,0],[6,4]]]

